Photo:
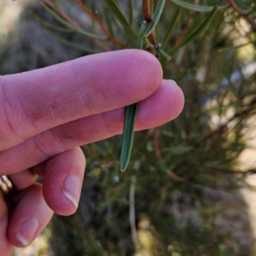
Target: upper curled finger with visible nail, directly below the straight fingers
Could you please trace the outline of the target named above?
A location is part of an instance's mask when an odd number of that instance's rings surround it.
[[[44,177],[44,199],[54,212],[70,215],[77,210],[84,169],[84,153],[79,147],[32,168]]]

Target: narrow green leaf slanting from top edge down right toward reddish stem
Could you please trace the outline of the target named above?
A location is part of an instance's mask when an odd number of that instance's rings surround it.
[[[126,20],[125,16],[123,15],[122,11],[119,9],[119,6],[113,0],[105,0],[108,5],[108,9],[112,12],[113,16],[119,20],[125,32],[130,35],[131,37],[136,36],[136,33],[131,28],[129,22]]]

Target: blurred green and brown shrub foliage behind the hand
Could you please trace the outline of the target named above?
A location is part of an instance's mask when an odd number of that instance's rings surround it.
[[[155,9],[158,1],[151,2]],[[1,35],[1,74],[136,47],[143,1],[41,3],[26,1],[20,12],[25,25]],[[183,113],[136,133],[125,173],[119,172],[120,136],[83,146],[79,209],[49,225],[52,253],[254,255],[239,189],[256,170],[241,165],[239,156],[255,125],[256,5],[166,0],[148,41],[144,49],[159,58],[164,78],[175,79],[184,92]]]

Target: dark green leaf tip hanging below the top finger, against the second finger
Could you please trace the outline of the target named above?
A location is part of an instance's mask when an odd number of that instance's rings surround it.
[[[134,135],[134,126],[137,117],[138,103],[125,108],[125,123],[123,130],[123,141],[120,155],[120,170],[125,172],[131,157],[131,147]]]

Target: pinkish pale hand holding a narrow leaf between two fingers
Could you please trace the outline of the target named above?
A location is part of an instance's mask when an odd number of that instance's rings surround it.
[[[0,196],[0,255],[26,247],[54,212],[76,211],[85,168],[79,146],[122,133],[125,106],[135,102],[137,131],[175,119],[184,102],[177,84],[162,79],[159,61],[142,50],[0,77],[0,175],[17,190],[11,212]]]

